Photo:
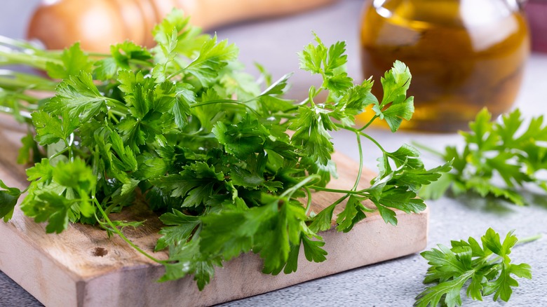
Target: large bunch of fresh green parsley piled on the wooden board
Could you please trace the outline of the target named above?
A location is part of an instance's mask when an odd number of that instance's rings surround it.
[[[27,192],[21,210],[47,222],[48,233],[69,222],[98,224],[163,264],[161,280],[194,275],[203,289],[214,266],[245,252],[264,259],[264,273],[296,271],[301,245],[306,259],[324,261],[319,232],[331,227],[337,205],[347,200],[339,231],[374,210],[395,225],[394,210],[424,210],[417,191],[450,170],[426,170],[412,146],[385,151],[364,132],[370,123],[354,127],[354,116],[370,104],[373,120],[385,120],[393,131],[411,118],[411,75],[402,62],[381,79],[384,97],[377,100],[371,80],[353,84],[346,74],[345,43],[327,47],[316,37],[299,57],[301,68],[323,82],[295,104],[283,98],[290,75],[265,86],[255,81],[241,70],[236,46],[201,34],[180,11],[156,26],[154,38],[151,50],[126,41],[109,55],[86,53],[77,43],[60,53],[0,41],[11,48],[0,50],[0,62],[61,80],[13,71],[0,76],[0,111],[27,121],[35,133],[20,151],[21,162],[34,163],[29,186],[20,191],[0,182],[0,217],[10,219]],[[55,95],[39,99],[31,89]],[[367,189],[358,189],[358,178],[346,190],[326,186],[336,176],[330,132],[339,129],[356,136],[361,156],[363,137],[383,152]],[[340,198],[311,214],[312,191]],[[138,223],[109,218],[131,210],[135,198],[161,214],[156,250],[168,249],[169,259],[154,258],[123,235],[121,228]],[[367,199],[374,208],[363,205]]]

